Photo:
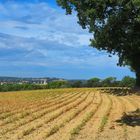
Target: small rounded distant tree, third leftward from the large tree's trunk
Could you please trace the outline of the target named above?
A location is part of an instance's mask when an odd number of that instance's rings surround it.
[[[92,78],[87,81],[87,87],[99,87],[99,86],[100,86],[99,78]]]

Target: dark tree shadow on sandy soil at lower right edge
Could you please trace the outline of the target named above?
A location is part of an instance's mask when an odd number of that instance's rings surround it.
[[[126,124],[132,127],[140,126],[140,109],[124,113],[121,119],[116,122],[120,123],[120,125]]]

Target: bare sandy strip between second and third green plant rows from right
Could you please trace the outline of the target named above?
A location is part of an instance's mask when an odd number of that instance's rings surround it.
[[[94,93],[92,92],[92,94]],[[88,107],[86,107],[84,110],[80,109],[81,111],[79,110],[80,112],[78,111],[79,113],[76,113],[76,116],[75,114],[73,114],[72,116],[70,116],[70,118],[63,121],[62,124],[60,123],[58,127],[53,127],[54,129],[51,129],[51,131],[55,130],[55,128],[57,128],[57,131],[55,131],[55,133],[52,133],[53,135],[49,135],[49,133],[51,132],[49,131],[46,135],[47,137],[44,137],[44,140],[45,138],[47,138],[48,140],[69,140],[72,130],[77,127],[82,122],[82,120],[87,117],[87,115],[89,115],[94,109],[97,108],[100,97],[99,95],[93,96],[92,94],[91,98],[93,98],[93,100],[92,103],[88,105]]]

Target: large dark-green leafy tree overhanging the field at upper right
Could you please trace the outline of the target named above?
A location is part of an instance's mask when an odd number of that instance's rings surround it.
[[[66,14],[93,33],[91,46],[119,56],[118,65],[136,73],[140,87],[140,0],[57,0]]]

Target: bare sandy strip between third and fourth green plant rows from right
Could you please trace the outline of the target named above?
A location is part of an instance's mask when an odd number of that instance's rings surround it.
[[[68,123],[68,121],[76,117],[80,112],[84,111],[91,104],[92,100],[89,99],[89,95],[87,97],[88,98],[86,101],[84,100],[82,104],[79,104],[77,107],[73,106],[69,112],[65,113],[62,117],[56,119],[55,121],[44,125],[38,132],[34,133],[34,135],[31,135],[30,138],[43,140],[56,133],[61,127]],[[27,137],[26,140],[27,139],[29,138]]]

